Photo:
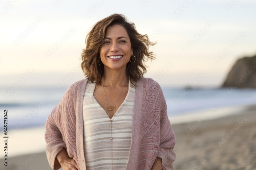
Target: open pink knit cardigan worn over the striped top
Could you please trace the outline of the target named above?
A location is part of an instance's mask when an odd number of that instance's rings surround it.
[[[56,155],[65,148],[80,170],[86,170],[83,142],[83,96],[87,79],[72,84],[46,121],[46,154],[52,169],[61,166]],[[148,169],[162,158],[163,170],[172,170],[176,143],[167,116],[166,101],[160,85],[141,77],[136,83],[132,117],[132,137],[126,169]]]

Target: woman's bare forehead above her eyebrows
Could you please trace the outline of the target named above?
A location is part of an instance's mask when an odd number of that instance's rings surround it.
[[[127,37],[128,34],[125,30],[125,28],[122,25],[112,25],[109,26],[106,30],[106,37],[114,38],[114,37],[120,37],[125,36]]]

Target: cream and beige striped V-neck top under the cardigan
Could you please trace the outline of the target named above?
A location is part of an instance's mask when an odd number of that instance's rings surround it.
[[[84,156],[86,169],[112,169],[111,123],[93,96],[96,83],[87,82],[83,98]],[[113,169],[125,169],[132,136],[135,86],[129,81],[124,102],[112,117]]]

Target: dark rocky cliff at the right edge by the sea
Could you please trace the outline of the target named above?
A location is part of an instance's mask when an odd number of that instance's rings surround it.
[[[222,87],[256,88],[256,55],[244,57],[234,64]]]

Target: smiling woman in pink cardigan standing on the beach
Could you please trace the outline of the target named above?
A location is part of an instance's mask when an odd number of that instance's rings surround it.
[[[143,77],[152,44],[121,14],[97,22],[82,53],[85,79],[46,121],[52,169],[173,169],[176,138],[161,87]]]

